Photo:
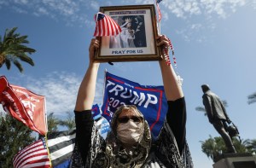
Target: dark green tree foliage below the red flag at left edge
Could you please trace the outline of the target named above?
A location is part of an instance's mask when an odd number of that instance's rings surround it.
[[[0,115],[0,163],[2,168],[13,167],[15,154],[36,140],[32,130],[13,119],[10,115]],[[1,167],[1,166],[0,166]]]

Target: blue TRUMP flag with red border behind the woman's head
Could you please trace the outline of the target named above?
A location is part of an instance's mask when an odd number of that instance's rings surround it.
[[[137,106],[154,138],[159,135],[167,113],[163,86],[141,85],[106,72],[102,116],[110,122],[117,107],[123,104]]]

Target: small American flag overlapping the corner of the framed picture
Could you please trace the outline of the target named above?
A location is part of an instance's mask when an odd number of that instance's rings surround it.
[[[115,36],[121,32],[120,26],[107,14],[98,12],[95,15],[96,29],[94,32],[95,37],[102,36]]]

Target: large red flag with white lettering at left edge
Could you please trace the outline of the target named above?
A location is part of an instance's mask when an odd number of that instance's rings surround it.
[[[25,88],[10,85],[0,77],[0,102],[6,112],[41,135],[47,132],[44,96],[38,96]]]

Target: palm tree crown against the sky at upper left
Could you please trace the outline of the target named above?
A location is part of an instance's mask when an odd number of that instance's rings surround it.
[[[11,62],[13,62],[20,72],[23,72],[20,61],[25,61],[31,66],[34,66],[32,58],[27,54],[32,54],[36,52],[36,50],[26,47],[25,44],[29,43],[29,41],[26,40],[27,36],[20,36],[19,33],[15,33],[16,30],[17,27],[11,30],[6,29],[3,39],[0,36],[0,68],[5,64],[9,70]]]

